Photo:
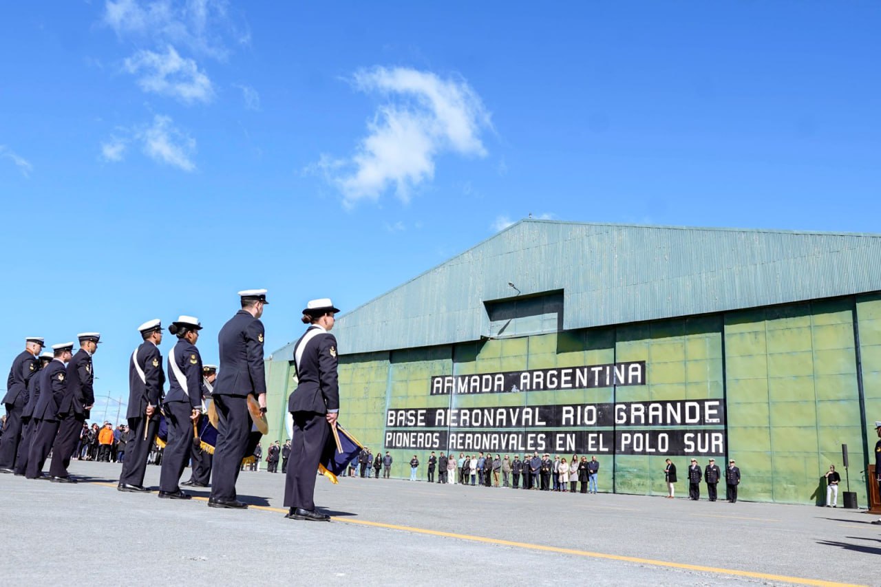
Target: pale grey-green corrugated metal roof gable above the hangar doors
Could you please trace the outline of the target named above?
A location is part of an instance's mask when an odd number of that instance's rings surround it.
[[[523,219],[340,316],[334,334],[344,354],[478,340],[485,301],[551,291],[573,330],[879,290],[881,234]]]

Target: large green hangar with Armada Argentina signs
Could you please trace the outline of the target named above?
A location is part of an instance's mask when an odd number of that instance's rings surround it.
[[[538,451],[596,456],[601,492],[666,494],[666,458],[680,492],[691,457],[735,458],[739,499],[823,502],[835,464],[866,504],[881,235],[524,219],[334,334],[340,420],[398,478],[431,450]],[[268,360],[273,439],[292,346]]]

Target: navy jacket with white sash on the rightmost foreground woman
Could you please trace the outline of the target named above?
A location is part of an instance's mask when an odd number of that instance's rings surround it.
[[[297,389],[287,400],[287,411],[337,412],[337,338],[313,324],[293,346],[293,360]]]

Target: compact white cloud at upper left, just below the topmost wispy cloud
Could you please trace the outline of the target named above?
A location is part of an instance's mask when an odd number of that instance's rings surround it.
[[[168,45],[164,54],[140,50],[124,62],[125,71],[140,75],[137,85],[144,92],[172,96],[184,103],[210,102],[214,97],[211,79],[199,71],[192,59],[181,57]]]

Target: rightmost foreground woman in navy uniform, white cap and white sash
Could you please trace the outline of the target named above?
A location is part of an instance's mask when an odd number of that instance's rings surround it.
[[[293,418],[291,463],[285,476],[285,507],[294,520],[324,522],[330,516],[315,510],[315,475],[330,427],[337,423],[337,338],[330,334],[339,310],[327,299],[309,301],[303,310],[306,333],[293,346],[297,389],[288,399]],[[377,457],[379,458],[379,457]],[[379,477],[379,469],[376,470]]]

